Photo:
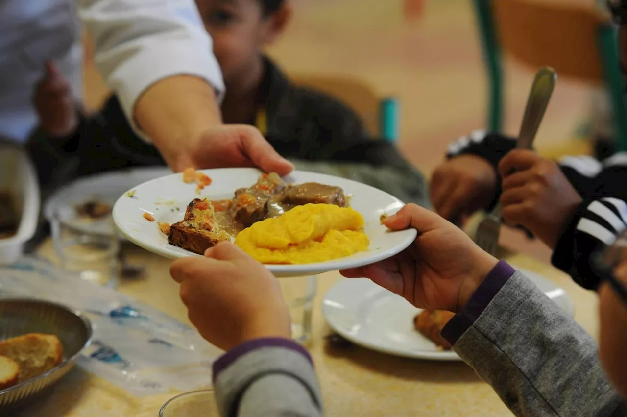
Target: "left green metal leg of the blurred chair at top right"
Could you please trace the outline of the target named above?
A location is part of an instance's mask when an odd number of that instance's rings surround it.
[[[497,29],[492,13],[492,1],[473,0],[473,4],[475,5],[490,85],[488,129],[492,132],[500,132],[503,125],[503,70]]]

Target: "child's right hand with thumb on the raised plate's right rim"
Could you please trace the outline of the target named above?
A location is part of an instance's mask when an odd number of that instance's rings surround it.
[[[383,222],[390,230],[416,228],[418,237],[398,255],[342,275],[370,278],[421,309],[460,311],[498,262],[455,225],[416,204]]]

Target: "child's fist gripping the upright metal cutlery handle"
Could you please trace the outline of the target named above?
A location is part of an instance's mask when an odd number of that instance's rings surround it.
[[[565,221],[581,204],[581,196],[556,162],[531,150],[515,149],[498,166],[503,177],[503,219],[523,226],[554,248]]]

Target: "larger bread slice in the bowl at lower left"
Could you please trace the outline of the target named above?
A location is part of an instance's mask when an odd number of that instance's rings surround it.
[[[56,335],[29,333],[0,341],[0,356],[18,363],[19,383],[23,383],[60,364],[63,346]]]

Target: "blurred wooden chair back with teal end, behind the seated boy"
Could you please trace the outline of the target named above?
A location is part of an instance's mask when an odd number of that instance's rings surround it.
[[[395,98],[379,97],[367,83],[347,75],[291,75],[296,85],[327,93],[349,105],[371,134],[395,142],[399,137],[399,105]]]

